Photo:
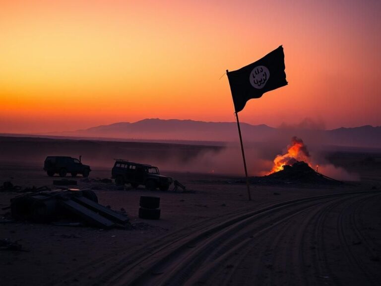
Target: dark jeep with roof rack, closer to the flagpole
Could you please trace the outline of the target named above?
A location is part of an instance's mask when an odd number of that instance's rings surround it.
[[[147,190],[159,188],[161,191],[167,191],[173,181],[171,177],[160,175],[159,169],[155,166],[123,159],[115,159],[111,177],[115,179],[117,185],[131,184],[133,188],[143,185]]]

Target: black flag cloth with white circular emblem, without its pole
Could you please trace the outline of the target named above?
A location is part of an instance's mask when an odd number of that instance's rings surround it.
[[[227,72],[235,111],[244,109],[249,99],[287,85],[284,69],[283,47],[279,46],[253,64]]]

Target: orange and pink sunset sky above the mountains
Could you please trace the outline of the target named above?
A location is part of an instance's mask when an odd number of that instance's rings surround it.
[[[381,125],[381,1],[2,0],[0,133],[234,121],[225,70],[283,45],[251,124]]]

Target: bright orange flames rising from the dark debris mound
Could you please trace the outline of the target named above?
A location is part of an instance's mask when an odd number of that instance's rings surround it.
[[[274,166],[268,175],[281,171],[284,165],[292,165],[296,161],[304,161],[311,167],[310,153],[307,150],[307,146],[303,143],[302,139],[294,136],[291,139],[291,144],[287,146],[287,154],[275,157]]]

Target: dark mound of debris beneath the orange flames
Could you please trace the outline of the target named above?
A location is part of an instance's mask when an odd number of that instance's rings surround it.
[[[283,170],[263,177],[253,177],[255,184],[342,184],[342,182],[329,178],[316,172],[306,162],[296,161],[292,165],[283,165]]]

